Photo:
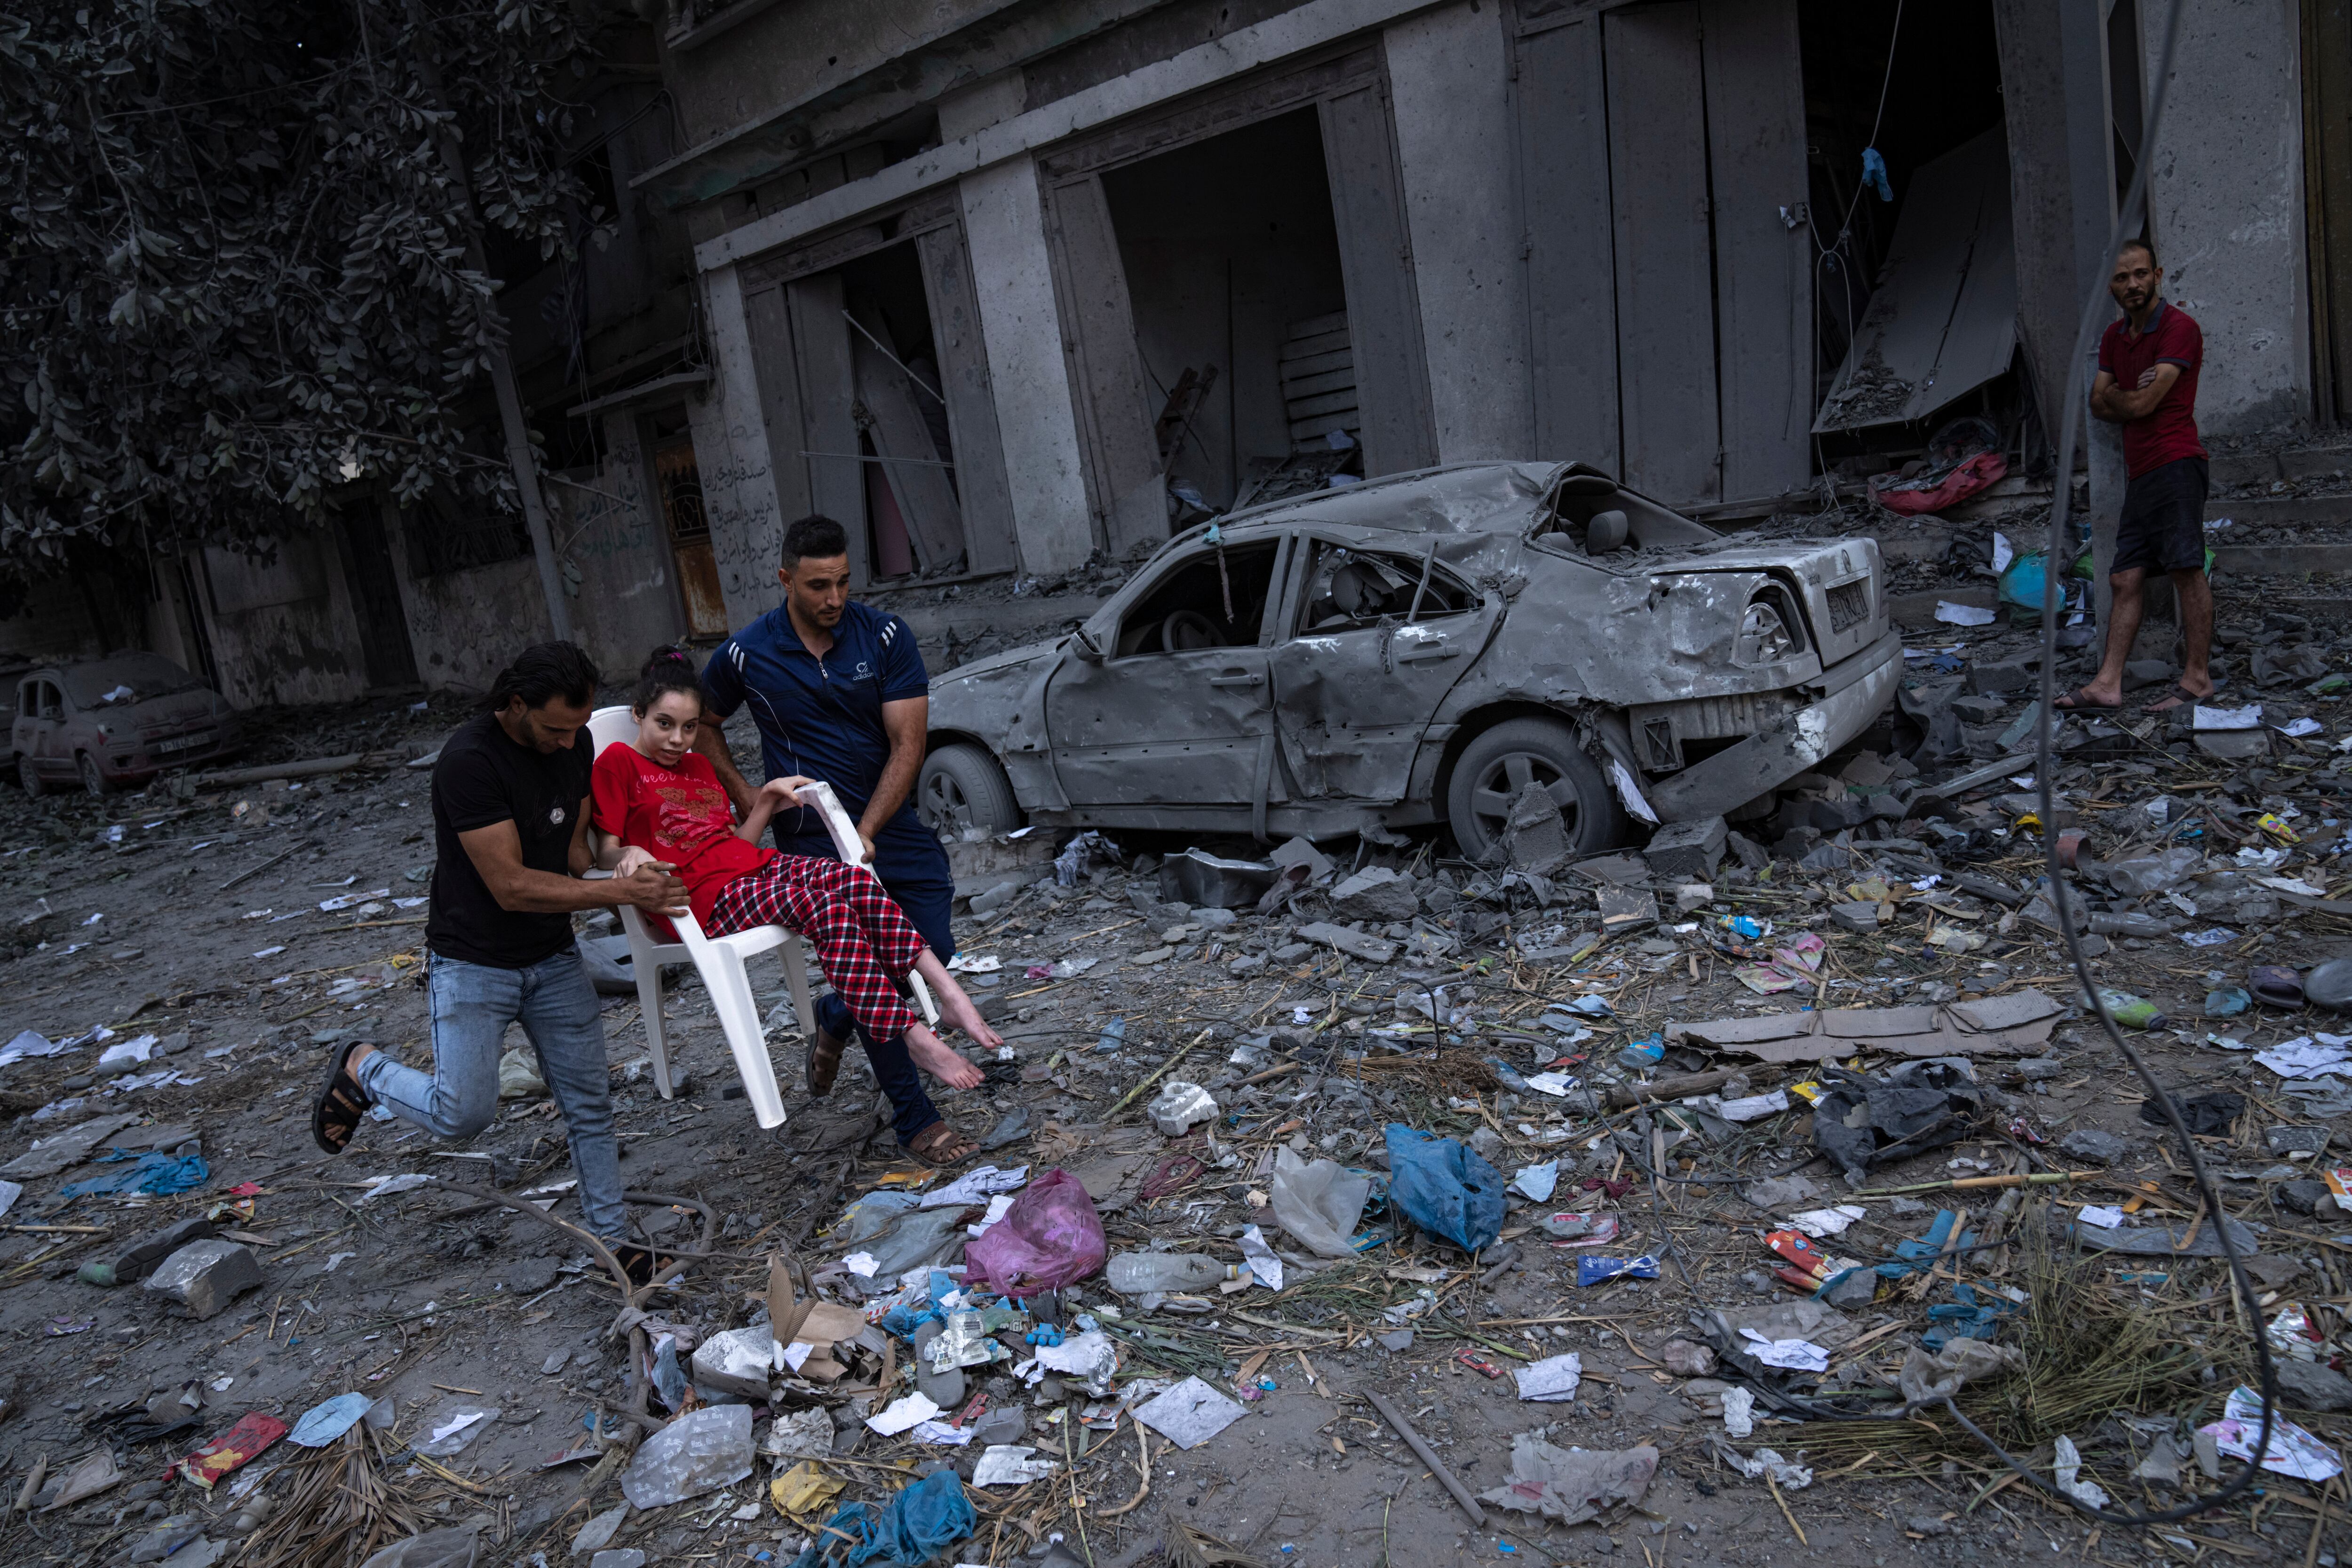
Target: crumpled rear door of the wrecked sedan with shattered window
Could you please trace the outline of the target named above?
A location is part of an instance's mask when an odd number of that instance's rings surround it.
[[[1289,637],[1275,646],[1275,726],[1308,799],[1404,799],[1437,703],[1503,614],[1421,552],[1303,536]]]

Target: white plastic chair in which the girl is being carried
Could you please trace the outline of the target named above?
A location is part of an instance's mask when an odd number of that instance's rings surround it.
[[[588,741],[602,757],[604,748],[612,743],[628,743],[637,733],[637,715],[628,705],[597,708],[588,715]],[[826,818],[826,827],[833,835],[833,846],[851,865],[863,856],[863,844],[858,842],[858,830],[849,820],[840,799],[833,795],[833,785],[818,783],[802,792],[804,804],[814,806],[818,816]],[[590,830],[590,839],[602,849],[604,835]],[[675,943],[661,943],[654,938],[644,922],[644,912],[635,905],[619,905],[621,929],[628,933],[628,961],[630,971],[637,976],[637,1006],[644,1013],[644,1044],[654,1056],[654,1086],[661,1098],[673,1098],[670,1088],[670,1051],[668,1037],[661,1023],[661,966],[691,961],[694,971],[703,978],[703,987],[710,992],[710,1004],[720,1016],[720,1030],[727,1034],[727,1048],[736,1058],[736,1072],[743,1074],[743,1093],[750,1098],[750,1110],[760,1119],[762,1128],[783,1126],[783,1093],[776,1086],[776,1065],[767,1056],[767,1027],[760,1023],[760,1006],[750,994],[750,976],[743,969],[743,959],[776,950],[783,959],[783,983],[793,992],[793,1018],[800,1020],[802,1030],[816,1027],[816,1013],[809,1009],[809,966],[800,947],[800,936],[786,931],[783,926],[753,926],[750,931],[736,931],[734,936],[703,936],[701,922],[694,914],[673,914],[670,926],[677,933]],[[929,987],[922,976],[908,976],[915,985],[915,1001],[922,1009],[927,1023],[938,1023],[938,1009],[931,1001]]]

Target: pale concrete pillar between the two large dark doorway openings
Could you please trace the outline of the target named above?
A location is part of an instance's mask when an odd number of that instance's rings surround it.
[[[967,174],[960,190],[1021,569],[1070,571],[1094,555],[1094,522],[1087,515],[1037,165],[1023,153]]]

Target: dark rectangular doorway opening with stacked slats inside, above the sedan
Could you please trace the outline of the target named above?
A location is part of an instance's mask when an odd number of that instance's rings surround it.
[[[1317,487],[1329,482],[1362,414],[1317,110],[1101,181],[1176,524],[1242,505],[1298,454],[1315,454]]]

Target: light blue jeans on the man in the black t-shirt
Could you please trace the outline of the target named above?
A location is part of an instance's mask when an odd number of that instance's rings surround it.
[[[360,1088],[428,1133],[470,1138],[499,1117],[499,1044],[506,1025],[520,1023],[539,1053],[539,1077],[564,1117],[572,1171],[581,1180],[581,1215],[604,1241],[626,1239],[604,1023],[579,952],[567,947],[529,969],[428,954],[426,997],[433,1072],[402,1067],[376,1051],[360,1067]]]

